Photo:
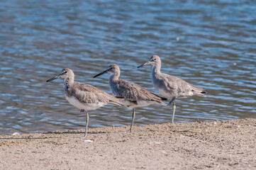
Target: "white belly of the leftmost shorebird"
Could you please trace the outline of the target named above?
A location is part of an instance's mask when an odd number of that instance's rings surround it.
[[[79,108],[79,109],[84,109],[87,111],[92,111],[95,110],[96,108],[105,106],[106,103],[99,102],[99,103],[81,103],[77,98],[68,97],[66,96],[67,101],[72,104],[72,106]]]

